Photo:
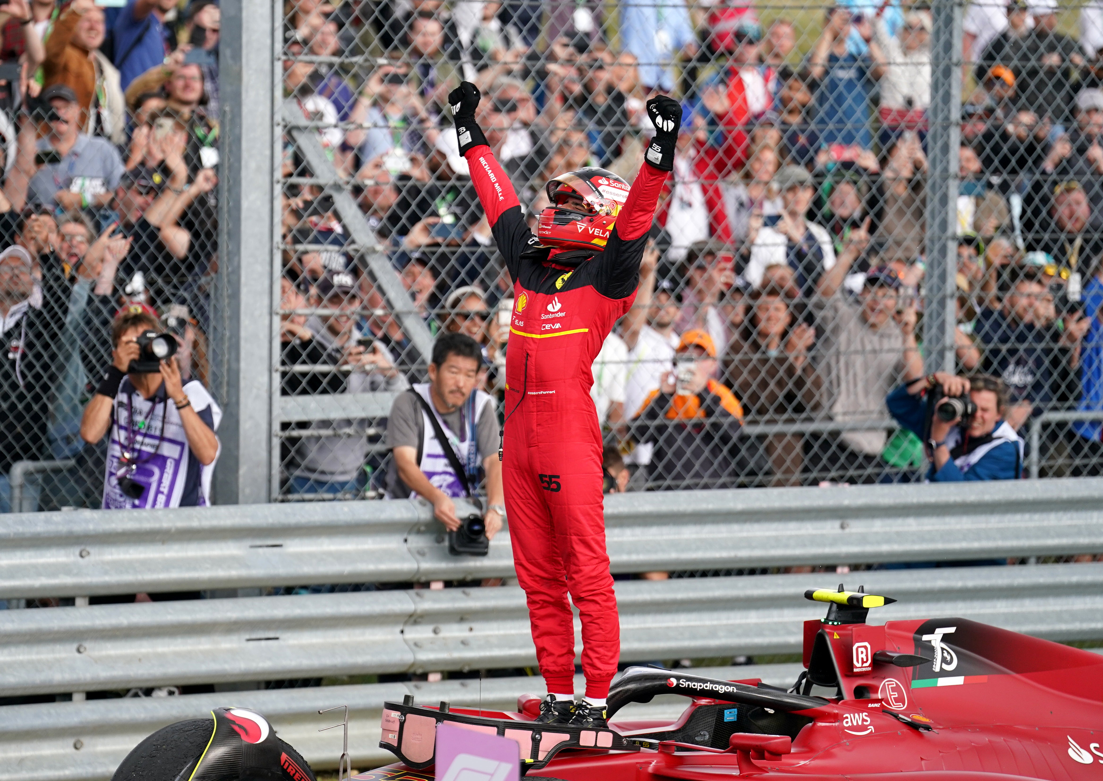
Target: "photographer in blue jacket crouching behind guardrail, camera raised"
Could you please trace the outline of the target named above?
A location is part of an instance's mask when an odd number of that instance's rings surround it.
[[[1003,419],[1007,389],[997,377],[935,372],[906,382],[885,403],[901,426],[927,442],[930,482],[1022,475],[1024,442]]]

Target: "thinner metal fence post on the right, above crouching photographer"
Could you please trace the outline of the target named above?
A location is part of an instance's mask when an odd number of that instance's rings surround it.
[[[931,107],[927,136],[928,372],[954,371],[957,297],[957,151],[961,140],[962,0],[932,0]]]

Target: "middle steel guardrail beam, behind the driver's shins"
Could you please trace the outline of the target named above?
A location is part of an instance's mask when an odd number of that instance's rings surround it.
[[[615,585],[622,661],[796,653],[832,574]],[[876,620],[967,616],[1051,640],[1103,639],[1103,563],[865,571],[900,600]],[[578,627],[576,624],[576,631]],[[0,611],[0,696],[529,666],[517,587],[385,590]]]

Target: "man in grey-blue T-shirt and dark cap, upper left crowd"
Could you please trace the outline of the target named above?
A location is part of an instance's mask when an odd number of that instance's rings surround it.
[[[31,178],[29,202],[67,212],[108,205],[125,172],[115,145],[81,132],[81,105],[67,85],[46,88],[42,98],[51,107],[50,132],[38,142],[44,162]]]

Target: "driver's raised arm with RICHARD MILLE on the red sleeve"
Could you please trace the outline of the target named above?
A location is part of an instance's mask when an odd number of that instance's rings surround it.
[[[486,221],[494,234],[494,242],[505,258],[510,277],[516,280],[521,254],[536,243],[536,237],[525,224],[521,202],[517,201],[508,175],[494,158],[486,137],[475,120],[475,109],[481,97],[479,87],[471,82],[463,82],[449,93],[448,103],[456,122],[460,154],[467,159],[471,169],[471,182],[479,194],[479,203],[486,212]]]

